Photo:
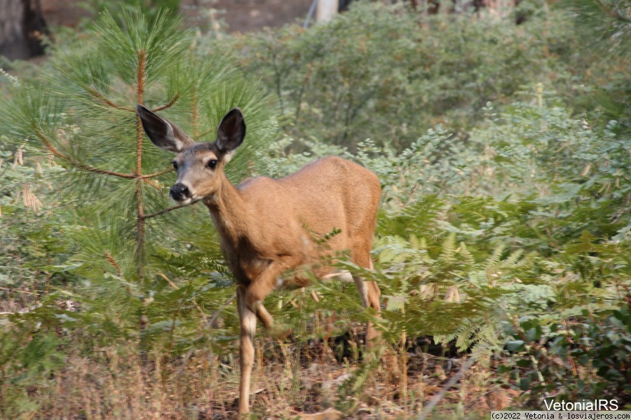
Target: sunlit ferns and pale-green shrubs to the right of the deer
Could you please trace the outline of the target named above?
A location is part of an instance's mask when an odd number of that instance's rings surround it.
[[[355,155],[337,151],[374,170],[384,189],[375,271],[341,267],[380,285],[386,310],[373,320],[388,341],[431,335],[489,355],[506,344],[506,320],[545,329],[620,306],[631,283],[627,140],[615,123],[573,118],[557,103],[518,102],[501,114],[487,105],[489,125],[472,131],[469,149],[437,128],[401,154],[372,142]],[[311,156],[278,161],[293,170]],[[304,313],[327,316],[324,301],[371,320],[346,287],[318,284],[319,304],[292,297],[299,305],[283,313],[304,325]],[[338,318],[334,327],[346,325]],[[362,374],[349,380],[363,384]]]

